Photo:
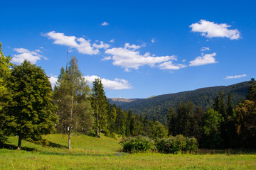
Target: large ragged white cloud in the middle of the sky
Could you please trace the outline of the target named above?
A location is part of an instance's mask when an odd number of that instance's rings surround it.
[[[125,68],[126,72],[129,72],[129,69],[139,69],[139,67],[144,65],[154,67],[156,64],[169,62],[170,60],[176,60],[176,56],[174,55],[151,57],[149,52],[141,55],[140,52],[137,51],[137,49],[140,47],[140,45],[129,45],[129,43],[126,43],[124,47],[114,47],[107,49],[105,50],[105,53],[112,55],[112,57],[107,57],[105,60],[113,60],[112,64]]]

